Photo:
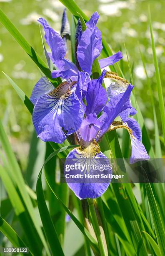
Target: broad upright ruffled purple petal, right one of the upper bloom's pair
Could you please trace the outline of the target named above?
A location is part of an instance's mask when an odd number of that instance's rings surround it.
[[[93,61],[102,50],[102,38],[100,30],[95,27],[87,28],[81,36],[77,47],[77,59],[82,71],[91,74]]]

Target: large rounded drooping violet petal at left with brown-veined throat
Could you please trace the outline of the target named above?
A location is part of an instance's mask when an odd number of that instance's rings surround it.
[[[83,108],[75,92],[70,91],[72,84],[63,82],[37,101],[32,120],[37,136],[42,141],[62,143],[66,135],[80,128]]]

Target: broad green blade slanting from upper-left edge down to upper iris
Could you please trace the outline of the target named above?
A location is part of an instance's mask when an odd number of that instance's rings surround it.
[[[24,49],[24,51],[30,56],[30,58],[37,64],[37,66],[41,69],[41,71],[45,74],[45,76],[52,82],[52,84],[56,87],[58,84],[62,82],[59,78],[53,79],[51,76],[50,69],[47,68],[45,63],[42,61],[40,56],[36,53],[36,51],[30,46],[30,44],[26,41],[26,39],[21,35],[18,29],[13,25],[13,23],[7,18],[5,13],[0,9],[0,22],[2,25],[9,31],[9,33],[18,41],[18,44]]]

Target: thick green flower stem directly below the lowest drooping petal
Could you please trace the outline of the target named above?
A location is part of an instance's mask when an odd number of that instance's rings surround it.
[[[106,256],[107,252],[105,251],[105,248],[104,248],[104,243],[103,243],[103,240],[102,240],[102,235],[101,235],[99,223],[98,223],[98,220],[97,220],[95,206],[94,206],[94,203],[93,203],[94,201],[93,201],[93,199],[88,198],[87,202],[88,202],[89,209],[90,209],[90,214],[91,214],[91,217],[92,217],[91,218],[92,219],[92,225],[93,225],[93,228],[95,230],[95,234],[96,234],[97,241],[98,241],[98,246],[99,246],[99,249],[100,249],[100,255],[101,256]]]

